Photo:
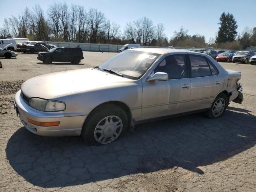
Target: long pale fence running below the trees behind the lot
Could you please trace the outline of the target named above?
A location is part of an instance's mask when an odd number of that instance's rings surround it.
[[[123,45],[112,44],[93,44],[93,43],[72,43],[72,42],[54,42],[46,41],[46,44],[53,44],[58,47],[80,47],[82,51],[96,51],[96,52],[118,52]],[[170,47],[158,47],[158,46],[141,46],[142,48],[170,48]],[[175,49],[194,49],[186,47],[172,47]],[[222,49],[214,49],[222,50]],[[239,50],[234,50],[239,51]]]

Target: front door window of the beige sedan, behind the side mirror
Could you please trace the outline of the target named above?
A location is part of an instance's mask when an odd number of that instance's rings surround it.
[[[187,78],[186,55],[177,54],[164,58],[155,68],[154,73],[165,72],[169,79]]]

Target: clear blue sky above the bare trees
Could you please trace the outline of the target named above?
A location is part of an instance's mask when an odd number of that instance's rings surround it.
[[[2,26],[4,17],[12,14],[17,16],[21,10],[32,8],[39,4],[44,10],[53,0],[0,0]],[[56,0],[56,2],[59,2]],[[165,33],[170,38],[174,30],[180,26],[188,29],[189,34],[202,34],[206,41],[215,37],[218,22],[222,12],[230,12],[236,18],[238,33],[248,26],[256,26],[256,0],[66,0],[68,4],[83,5],[97,8],[106,18],[120,24],[122,30],[126,22],[141,17],[153,20],[154,25],[162,22],[166,27]],[[17,14],[16,14],[17,13]]]

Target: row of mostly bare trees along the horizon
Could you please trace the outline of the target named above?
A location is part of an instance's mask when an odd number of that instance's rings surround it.
[[[219,24],[218,34],[208,42],[203,35],[188,35],[188,29],[183,26],[168,39],[164,24],[154,25],[147,17],[127,22],[122,30],[119,24],[106,18],[96,8],[86,10],[77,4],[53,2],[45,11],[36,4],[32,9],[25,8],[18,16],[4,18],[0,38],[226,49],[256,46],[256,27],[247,27],[238,34],[236,20],[230,13],[222,13]]]

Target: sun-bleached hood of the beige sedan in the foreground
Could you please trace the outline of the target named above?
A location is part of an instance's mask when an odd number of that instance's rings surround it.
[[[28,98],[53,99],[72,92],[86,92],[133,82],[94,68],[45,74],[26,80],[21,90]]]

